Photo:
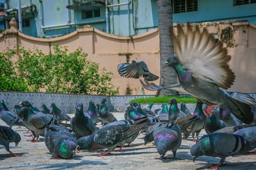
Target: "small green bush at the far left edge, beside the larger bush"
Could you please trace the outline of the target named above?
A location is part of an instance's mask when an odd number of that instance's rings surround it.
[[[10,60],[15,54],[14,50],[6,49],[0,52],[0,91],[27,91],[27,84],[18,78],[14,71],[13,62]]]

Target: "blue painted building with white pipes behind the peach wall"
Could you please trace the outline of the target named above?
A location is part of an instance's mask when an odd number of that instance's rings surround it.
[[[19,0],[1,0],[2,23],[18,22]],[[249,20],[256,24],[256,0],[172,0],[173,21]],[[0,8],[0,11],[1,9]],[[91,25],[119,36],[139,35],[158,27],[156,0],[20,0],[22,32],[58,37]],[[3,24],[2,24],[3,25]]]

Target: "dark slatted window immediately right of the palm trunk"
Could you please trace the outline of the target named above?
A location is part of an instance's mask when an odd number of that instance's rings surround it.
[[[197,0],[172,0],[172,11],[174,14],[197,11]]]

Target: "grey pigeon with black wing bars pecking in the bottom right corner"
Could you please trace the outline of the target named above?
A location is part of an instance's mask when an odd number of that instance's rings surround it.
[[[228,141],[228,142],[227,142]],[[213,168],[223,166],[227,156],[245,154],[255,148],[256,142],[249,141],[240,135],[229,133],[212,133],[203,135],[190,149],[193,162],[199,156],[220,157],[220,163]]]

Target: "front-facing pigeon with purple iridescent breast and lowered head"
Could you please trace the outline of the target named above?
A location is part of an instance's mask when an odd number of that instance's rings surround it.
[[[174,125],[172,128],[163,128],[154,137],[154,143],[157,147],[157,151],[160,155],[160,160],[166,159],[167,151],[172,151],[174,157],[171,159],[177,159],[177,148],[181,145],[181,133],[179,125]]]

